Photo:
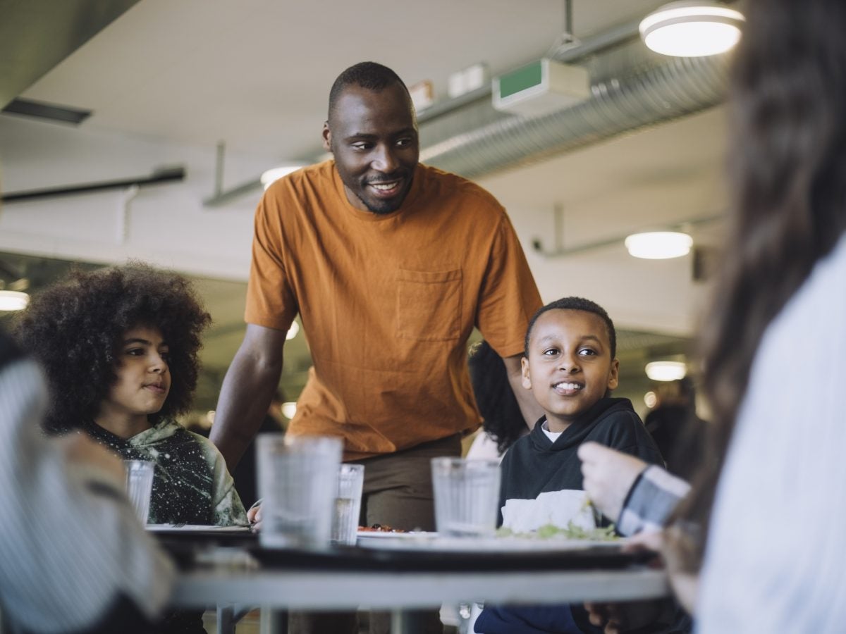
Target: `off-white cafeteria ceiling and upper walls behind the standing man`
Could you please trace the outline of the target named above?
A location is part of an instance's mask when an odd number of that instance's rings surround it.
[[[482,62],[496,75],[543,57],[563,33],[565,6],[129,0],[103,15],[96,0],[58,4],[63,11],[49,0],[0,0],[0,69],[23,69],[3,73],[0,97],[92,113],[78,126],[0,115],[3,191],[140,178],[160,167],[185,167],[186,176],[137,192],[8,203],[0,252],[99,264],[139,258],[206,278],[217,338],[206,342],[204,362],[216,372],[241,336],[261,192],[218,207],[202,201],[268,167],[314,158],[329,86],[351,63],[385,63],[409,85],[429,79],[446,99],[448,76],[461,68]],[[574,36],[590,40],[660,4],[574,0]],[[722,107],[710,107],[475,179],[507,206],[545,300],[583,295],[624,329],[689,337],[707,292],[693,259],[633,260],[611,239],[694,221],[705,251],[720,242],[722,222],[706,219],[725,206],[723,118]]]

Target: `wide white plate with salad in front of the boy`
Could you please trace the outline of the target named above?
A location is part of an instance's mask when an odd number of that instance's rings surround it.
[[[414,537],[415,533],[400,533]],[[421,535],[431,535],[430,538],[421,538]],[[535,539],[535,538],[518,538],[518,537],[503,537],[503,538],[448,538],[437,537],[437,533],[416,533],[417,539],[384,539],[372,540],[367,543],[366,540],[359,542],[359,545],[364,548],[376,549],[393,549],[393,550],[431,550],[434,552],[453,551],[453,552],[503,552],[503,553],[519,553],[519,552],[533,552],[533,551],[563,551],[563,550],[584,550],[595,548],[597,546],[603,548],[619,548],[625,544],[624,539],[618,539],[611,542],[594,541],[591,539]]]

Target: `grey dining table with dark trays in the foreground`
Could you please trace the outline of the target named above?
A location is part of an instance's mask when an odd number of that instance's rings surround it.
[[[375,609],[393,634],[415,634],[409,611],[442,604],[564,604],[669,594],[651,555],[621,543],[361,534],[355,546],[269,549],[255,533],[158,533],[179,565],[171,602],[217,608],[218,634],[261,609],[261,633],[287,631],[288,610]]]

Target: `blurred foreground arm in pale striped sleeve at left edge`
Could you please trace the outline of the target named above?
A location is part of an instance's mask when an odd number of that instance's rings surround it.
[[[47,440],[44,402],[35,363],[0,367],[0,604],[25,631],[147,631],[173,566],[135,517],[121,462],[85,435]]]

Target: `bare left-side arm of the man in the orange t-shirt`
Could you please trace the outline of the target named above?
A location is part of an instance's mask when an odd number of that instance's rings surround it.
[[[285,334],[247,324],[244,342],[223,379],[209,438],[230,473],[255,437],[279,384]]]

